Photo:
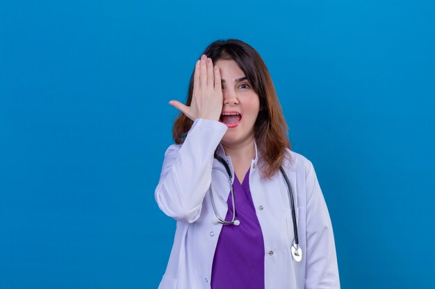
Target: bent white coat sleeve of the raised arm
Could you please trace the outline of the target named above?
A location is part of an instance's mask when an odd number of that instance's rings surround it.
[[[158,207],[181,222],[195,222],[211,184],[213,154],[227,125],[196,119],[183,145],[165,152],[160,180],[154,192]]]

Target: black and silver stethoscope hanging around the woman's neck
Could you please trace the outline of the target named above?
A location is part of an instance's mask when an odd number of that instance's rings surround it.
[[[215,159],[220,161],[220,163],[224,165],[225,170],[227,170],[226,173],[228,174],[228,177],[229,177],[231,204],[233,205],[233,217],[231,218],[231,221],[226,221],[226,220],[220,218],[219,213],[217,213],[217,211],[216,211],[215,200],[213,198],[213,191],[212,191],[211,185],[210,185],[211,204],[213,205],[213,211],[215,212],[215,216],[217,218],[217,220],[213,220],[213,222],[215,224],[238,226],[238,225],[240,225],[240,221],[236,220],[236,205],[234,202],[234,192],[233,192],[233,183],[232,183],[233,174],[231,174],[231,170],[229,168],[229,165],[227,164],[227,162],[224,159],[222,159],[222,157],[215,154]],[[220,168],[215,168],[215,169],[222,170]],[[297,262],[300,262],[302,260],[302,249],[299,247],[299,237],[297,236],[295,200],[293,200],[293,191],[291,189],[290,181],[288,180],[288,177],[287,177],[286,172],[284,171],[284,168],[282,168],[282,166],[280,166],[279,170],[281,170],[281,174],[284,176],[284,180],[286,181],[287,188],[288,188],[288,199],[290,200],[290,207],[292,208],[291,211],[292,211],[292,220],[293,220],[293,231],[295,234],[295,243],[291,246],[290,249],[291,249],[293,259],[295,259],[295,261],[297,261]],[[225,172],[223,172],[223,173],[225,173]]]

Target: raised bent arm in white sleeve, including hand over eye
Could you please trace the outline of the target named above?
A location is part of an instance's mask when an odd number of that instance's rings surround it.
[[[222,83],[218,67],[202,55],[195,65],[190,106],[171,100],[194,121],[181,146],[170,146],[154,196],[158,207],[176,220],[195,222],[211,184],[213,153],[227,132],[219,123],[222,111]]]

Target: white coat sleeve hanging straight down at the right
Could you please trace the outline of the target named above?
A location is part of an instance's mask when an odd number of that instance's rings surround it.
[[[311,161],[306,166],[305,288],[340,288],[331,219]]]

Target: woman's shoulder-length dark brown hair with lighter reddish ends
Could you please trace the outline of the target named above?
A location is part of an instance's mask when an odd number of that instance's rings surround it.
[[[290,149],[290,141],[288,141],[288,127],[277,92],[263,59],[252,46],[234,39],[217,40],[210,44],[202,54],[211,58],[213,63],[217,60],[234,60],[260,98],[261,110],[258,112],[254,125],[254,135],[259,151],[258,165],[262,177],[272,177],[274,173],[277,173],[284,159],[290,157],[286,150],[286,148]],[[190,76],[186,105],[190,105],[192,101],[194,73],[195,70]],[[183,143],[192,123],[192,120],[183,113],[179,114],[172,129],[175,143]]]

